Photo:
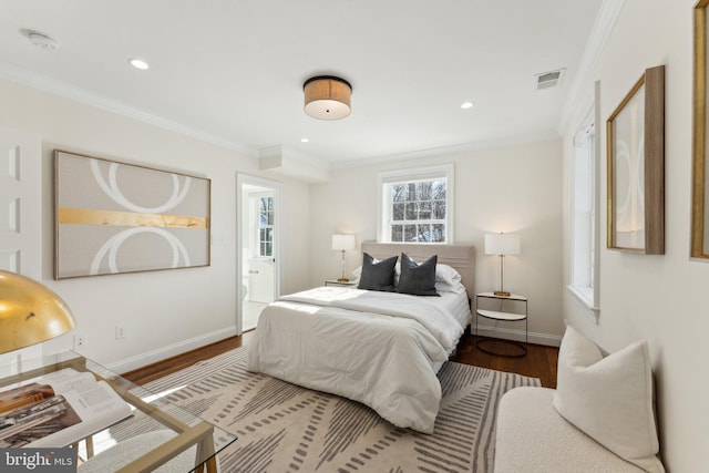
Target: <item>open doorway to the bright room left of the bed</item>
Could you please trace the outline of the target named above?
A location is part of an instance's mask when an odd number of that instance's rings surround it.
[[[253,330],[280,296],[280,184],[237,174],[237,331]]]

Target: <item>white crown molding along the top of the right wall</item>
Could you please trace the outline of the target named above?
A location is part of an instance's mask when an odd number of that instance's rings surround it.
[[[561,134],[564,134],[565,130],[572,125],[571,121],[578,107],[593,102],[595,71],[624,6],[625,0],[604,0],[600,4],[594,28],[578,63],[578,70],[574,74],[566,102],[564,102],[557,125]]]

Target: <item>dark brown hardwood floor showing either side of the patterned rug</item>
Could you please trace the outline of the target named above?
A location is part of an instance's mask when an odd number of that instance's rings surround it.
[[[158,361],[157,363],[130,371],[124,373],[123,377],[136,384],[144,384],[183,368],[187,368],[197,361],[206,360],[224,353],[225,351],[238,348],[243,343],[248,342],[250,336],[251,332],[244,333],[239,337],[230,337],[197,350],[188,351],[186,353],[168,358],[167,360]],[[510,346],[504,342],[487,345],[486,348],[501,353],[512,353],[512,351],[508,351],[511,350]],[[507,371],[526,377],[540,378],[544,388],[556,388],[557,358],[557,348],[531,343],[527,346],[527,354],[525,357],[510,358],[489,354],[475,347],[475,336],[465,333],[458,346],[455,356],[451,359],[459,363],[474,364],[497,371]]]

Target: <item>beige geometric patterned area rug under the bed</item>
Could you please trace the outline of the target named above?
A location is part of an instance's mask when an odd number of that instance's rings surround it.
[[[368,407],[246,370],[248,346],[152,381],[154,393],[238,435],[222,472],[491,472],[502,394],[540,380],[446,362],[432,434],[397,428]]]

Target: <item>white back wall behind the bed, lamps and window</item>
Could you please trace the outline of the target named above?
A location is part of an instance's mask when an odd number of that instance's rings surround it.
[[[454,240],[476,247],[475,290],[499,286],[497,258],[484,254],[485,233],[518,232],[522,254],[506,258],[505,288],[530,299],[530,341],[558,343],[563,333],[561,141],[332,171],[329,183],[311,188],[310,284],[322,285],[339,275],[340,254],[330,249],[332,234],[356,234],[358,247],[362,240],[377,239],[379,172],[444,163],[455,165]],[[346,271],[361,264],[360,253],[346,256]],[[501,327],[524,333],[523,325]]]

